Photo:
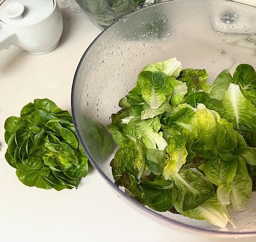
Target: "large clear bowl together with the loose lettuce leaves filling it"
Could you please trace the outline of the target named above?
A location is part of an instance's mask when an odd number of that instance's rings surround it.
[[[256,236],[255,7],[176,0],[85,51],[72,114],[92,165],[159,223]]]

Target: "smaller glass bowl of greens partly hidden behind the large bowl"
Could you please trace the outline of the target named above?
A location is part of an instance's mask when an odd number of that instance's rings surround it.
[[[158,0],[75,0],[92,21],[105,29],[118,18],[158,3]]]

